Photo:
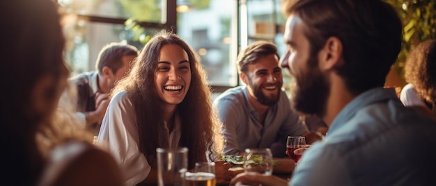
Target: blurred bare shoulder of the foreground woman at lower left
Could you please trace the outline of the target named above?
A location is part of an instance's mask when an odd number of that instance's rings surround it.
[[[49,155],[39,185],[123,185],[114,158],[86,142],[67,142]]]

